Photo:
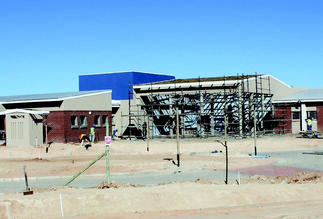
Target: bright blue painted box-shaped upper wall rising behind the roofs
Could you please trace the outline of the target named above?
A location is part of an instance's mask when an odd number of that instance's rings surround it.
[[[112,99],[121,100],[129,99],[129,82],[130,84],[144,84],[171,80],[174,76],[156,75],[142,72],[120,72],[109,74],[95,74],[95,75],[79,75],[78,89],[79,91],[86,90],[106,90],[112,89]],[[132,92],[132,86],[130,87]],[[132,95],[130,97],[132,99]]]

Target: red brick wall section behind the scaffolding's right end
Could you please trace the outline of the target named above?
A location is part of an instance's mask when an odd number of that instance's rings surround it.
[[[285,121],[273,121],[276,125],[276,132],[275,133],[292,133],[292,109],[291,107],[274,107],[275,109],[275,116],[274,120],[285,120]]]

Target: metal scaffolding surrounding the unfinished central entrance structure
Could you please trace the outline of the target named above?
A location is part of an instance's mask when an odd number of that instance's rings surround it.
[[[291,108],[286,103],[272,103],[269,76],[237,75],[213,80],[221,80],[223,84],[213,86],[210,79],[211,85],[202,87],[206,79],[199,77],[194,79],[198,85],[184,88],[176,87],[174,79],[172,84],[168,82],[167,90],[153,89],[151,82],[150,88],[139,94],[131,92],[129,84],[129,114],[121,114],[121,123],[122,117],[128,117],[129,123],[122,124],[121,133],[130,139],[141,137],[144,121],[148,124],[148,138],[175,138],[177,131],[181,138],[224,137],[225,123],[227,136],[239,139],[291,133]],[[176,108],[179,130],[176,130]]]

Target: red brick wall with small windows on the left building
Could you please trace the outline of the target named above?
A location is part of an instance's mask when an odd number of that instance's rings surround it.
[[[50,111],[47,115],[47,141],[67,143],[70,141],[78,142],[78,136],[80,134],[86,134],[89,136],[90,128],[94,124],[94,116],[100,116],[101,126],[97,126],[96,140],[102,141],[106,134],[106,127],[102,126],[102,116],[108,115],[109,122],[109,134],[112,132],[112,120],[111,111],[80,111],[80,110],[63,110],[63,111]],[[78,127],[71,127],[71,116],[77,116]],[[80,116],[86,116],[88,126],[80,126]],[[45,130],[45,115],[43,115],[43,126]],[[45,133],[45,132],[44,132]],[[45,138],[45,134],[44,134]]]

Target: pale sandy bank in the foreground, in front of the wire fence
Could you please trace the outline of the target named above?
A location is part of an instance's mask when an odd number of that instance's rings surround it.
[[[46,218],[60,218],[59,194],[62,195],[64,217],[68,218],[148,218],[152,215],[154,218],[169,218],[194,211],[197,214],[202,214],[202,210],[215,211],[212,208],[222,212],[228,210],[226,214],[229,215],[239,207],[246,209],[286,202],[318,201],[323,199],[323,183],[214,185],[177,182],[119,189],[68,187],[27,196],[21,193],[0,194],[0,217],[43,218],[46,215]]]

